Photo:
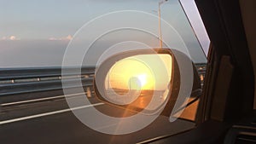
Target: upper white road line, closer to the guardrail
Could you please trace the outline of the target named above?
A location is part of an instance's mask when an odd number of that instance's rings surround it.
[[[66,95],[66,97],[70,97],[70,96],[74,96],[74,95],[83,95],[83,94],[85,94],[85,93],[78,93],[78,94]],[[51,100],[51,99],[57,99],[57,98],[62,98],[62,97],[65,97],[65,95],[58,95],[58,96],[52,96],[52,97],[45,97],[45,98],[33,99],[33,100],[26,100],[26,101],[15,101],[15,102],[3,103],[3,104],[1,104],[1,106],[2,106],[2,107],[6,107],[6,106],[17,105],[17,104],[22,104],[22,103],[35,102],[35,101],[44,101],[44,100]]]

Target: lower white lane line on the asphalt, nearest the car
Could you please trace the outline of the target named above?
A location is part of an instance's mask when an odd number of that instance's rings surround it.
[[[0,121],[0,125],[1,124],[9,124],[9,123],[14,123],[14,122],[19,122],[19,121],[26,120],[26,119],[45,117],[45,116],[54,115],[54,114],[63,113],[63,112],[69,112],[69,111],[73,111],[73,110],[79,110],[79,109],[87,108],[87,107],[100,106],[100,105],[103,105],[103,104],[104,103],[100,102],[100,103],[87,105],[87,106],[82,106],[82,107],[73,107],[73,108],[67,108],[67,109],[54,111],[54,112],[45,112],[45,113],[35,114],[35,115],[32,115],[32,116],[26,116],[26,117],[21,117],[21,118],[14,118],[14,119],[9,119],[9,120],[4,120],[4,121]]]

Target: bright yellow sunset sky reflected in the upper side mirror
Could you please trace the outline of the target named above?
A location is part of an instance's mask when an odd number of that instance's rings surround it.
[[[171,76],[171,55],[137,55],[116,62],[108,72],[105,87],[164,90],[170,83]]]

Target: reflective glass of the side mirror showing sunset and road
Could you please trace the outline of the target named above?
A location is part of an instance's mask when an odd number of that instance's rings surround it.
[[[104,98],[133,110],[156,110],[166,102],[171,78],[171,55],[127,57],[116,61],[109,69],[105,78]]]

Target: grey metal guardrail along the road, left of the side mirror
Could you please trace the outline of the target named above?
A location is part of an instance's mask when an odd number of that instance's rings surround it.
[[[61,67],[0,69],[0,96],[62,89],[61,81],[67,82],[67,88],[76,88],[79,86],[75,84],[78,79],[81,79],[90,96],[95,66],[64,69],[62,76]]]

